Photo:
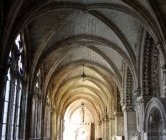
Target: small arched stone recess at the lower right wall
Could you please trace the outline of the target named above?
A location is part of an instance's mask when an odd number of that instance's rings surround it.
[[[146,107],[144,129],[147,140],[166,139],[166,101],[152,98]]]

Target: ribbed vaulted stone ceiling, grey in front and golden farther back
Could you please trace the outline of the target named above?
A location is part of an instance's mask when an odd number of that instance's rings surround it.
[[[156,2],[164,9],[165,3]],[[117,87],[122,87],[124,63],[136,78],[143,31],[164,43],[146,0],[28,0],[20,11],[32,74],[42,67],[47,100],[62,114],[83,101],[100,115],[105,107],[111,110]]]

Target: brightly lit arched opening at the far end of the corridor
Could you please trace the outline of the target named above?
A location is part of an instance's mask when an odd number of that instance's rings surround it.
[[[97,113],[86,100],[71,103],[64,115],[63,140],[94,140]],[[101,130],[100,130],[101,131]]]

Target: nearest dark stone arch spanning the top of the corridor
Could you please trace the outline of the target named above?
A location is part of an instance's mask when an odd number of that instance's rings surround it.
[[[129,4],[128,2],[125,1],[126,4],[131,5],[131,3]],[[20,6],[23,4],[23,2],[19,3],[17,2],[16,5],[13,6],[12,8],[12,12],[13,10],[15,11],[16,7],[17,7],[17,11],[13,12],[12,15],[12,19],[13,21],[15,21],[18,13],[19,13],[19,8]],[[137,4],[136,4],[137,5]],[[41,14],[45,14],[46,11],[48,10],[46,7],[50,6],[49,10],[47,12],[51,12],[51,11],[57,11],[57,10],[62,10],[62,9],[75,9],[75,10],[84,10],[84,11],[94,11],[97,8],[103,8],[103,9],[114,9],[117,11],[122,11],[132,17],[134,17],[136,20],[138,20],[144,27],[146,27],[146,29],[148,29],[148,31],[151,32],[151,34],[153,35],[153,37],[155,38],[156,41],[161,40],[161,42],[164,40],[162,38],[162,35],[160,33],[158,33],[158,28],[157,25],[154,24],[154,19],[152,17],[148,17],[149,15],[146,13],[142,13],[140,12],[142,10],[142,8],[137,7],[135,4],[132,4],[131,6],[133,8],[139,9],[138,11],[134,11],[131,10],[129,8],[126,8],[124,6],[118,5],[118,4],[102,4],[102,3],[96,3],[95,5],[84,5],[84,4],[80,4],[80,3],[68,3],[68,4],[63,4],[63,3],[48,3],[46,4],[45,2],[40,2],[38,3],[36,6],[31,7],[31,9],[29,10],[29,12],[27,14],[25,14],[22,18],[20,18],[20,20],[17,22],[18,26],[14,29],[12,37],[20,30],[22,30],[23,28],[25,28],[25,26],[31,22],[31,20],[34,20],[36,17],[38,17]],[[19,7],[19,8],[18,8]],[[12,13],[11,12],[11,13]],[[90,12],[89,12],[90,13]],[[147,17],[149,18],[149,20],[147,21]],[[8,46],[7,44],[9,44],[9,40],[11,40],[11,38],[9,37],[10,35],[10,31],[13,28],[14,23],[8,23],[8,26],[6,26],[6,29],[10,29],[9,30],[9,34],[7,34],[7,38],[4,45]],[[159,37],[157,37],[157,35],[159,34]],[[10,46],[10,45],[9,45]],[[162,48],[162,50],[164,50],[164,48]],[[3,51],[2,56],[5,56],[5,51]],[[165,52],[164,52],[165,53]],[[3,58],[3,57],[2,57]]]

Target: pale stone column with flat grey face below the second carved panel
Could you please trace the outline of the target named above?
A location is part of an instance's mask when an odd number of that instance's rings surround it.
[[[136,133],[136,113],[133,107],[123,106],[125,140],[131,140]]]

